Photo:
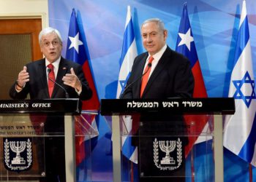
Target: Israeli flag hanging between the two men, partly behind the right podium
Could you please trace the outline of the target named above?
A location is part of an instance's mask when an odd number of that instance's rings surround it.
[[[127,20],[125,24],[124,31],[124,41],[121,52],[121,60],[120,60],[120,71],[118,76],[118,88],[116,93],[116,98],[119,98],[122,92],[124,92],[124,87],[127,84],[127,80],[129,79],[130,72],[132,70],[132,64],[135,60],[135,57],[138,55],[136,41],[135,41],[135,32],[132,24],[132,16],[131,9],[127,7]],[[122,128],[127,130],[127,133],[132,132],[132,118],[131,116],[122,116],[121,123],[124,124]],[[132,137],[128,135],[122,136],[122,154],[125,157],[130,159],[132,162],[138,163],[138,154],[137,147],[132,146]]]

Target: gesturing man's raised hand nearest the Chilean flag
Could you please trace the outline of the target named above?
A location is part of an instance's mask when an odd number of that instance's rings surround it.
[[[70,87],[73,87],[76,90],[80,91],[82,85],[80,80],[78,79],[78,76],[76,76],[73,68],[70,69],[70,73],[71,74],[65,74],[65,76],[63,76],[62,78],[62,81],[64,82],[64,84],[67,84]]]

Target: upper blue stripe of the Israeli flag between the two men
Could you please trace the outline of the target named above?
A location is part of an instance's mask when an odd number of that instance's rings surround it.
[[[135,33],[133,31],[132,18],[131,18],[124,32],[124,41],[123,41],[123,47],[121,51],[120,65],[123,63],[124,57],[127,54],[127,51],[129,50],[129,47],[131,46],[132,41],[134,41],[134,39],[135,39]]]

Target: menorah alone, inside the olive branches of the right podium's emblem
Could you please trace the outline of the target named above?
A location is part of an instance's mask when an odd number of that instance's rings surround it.
[[[159,141],[159,147],[161,151],[165,152],[165,157],[161,160],[161,165],[175,165],[175,160],[170,157],[170,152],[174,151],[176,148],[176,141]]]

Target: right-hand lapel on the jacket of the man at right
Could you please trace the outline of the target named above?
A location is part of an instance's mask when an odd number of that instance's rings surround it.
[[[148,83],[146,84],[145,90],[143,92],[143,95],[146,94],[146,92],[148,92],[148,90],[150,90],[150,87],[152,86],[153,82],[157,82],[157,76],[159,74],[161,74],[162,70],[165,68],[165,65],[168,63],[168,60],[170,59],[170,48],[167,47],[167,49],[165,50],[164,54],[162,55],[162,57],[160,58],[159,62],[157,63],[156,68],[154,68],[153,73],[151,74],[151,76],[148,79]],[[143,98],[142,95],[142,98]]]

